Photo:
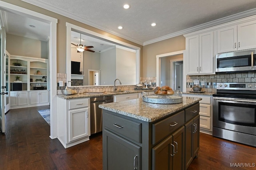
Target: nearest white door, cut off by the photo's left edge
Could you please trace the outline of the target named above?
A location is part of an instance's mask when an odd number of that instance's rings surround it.
[[[0,43],[1,43],[1,50],[0,50],[0,53],[1,53],[1,59],[0,59],[0,67],[1,67],[1,97],[0,97],[0,103],[1,103],[1,109],[0,109],[0,128],[1,128],[1,131],[2,133],[5,132],[5,111],[4,111],[4,106],[5,106],[5,97],[4,97],[4,94],[5,94],[5,86],[6,84],[5,81],[6,81],[6,77],[5,77],[5,60],[4,60],[4,53],[5,53],[5,28],[4,27],[1,27],[1,37],[0,37]],[[3,88],[2,88],[3,87]]]

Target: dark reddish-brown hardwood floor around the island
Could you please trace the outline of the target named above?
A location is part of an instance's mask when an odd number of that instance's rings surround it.
[[[37,111],[47,108],[12,109],[6,114],[6,133],[0,134],[0,170],[101,170],[102,134],[64,149],[58,139],[50,139],[50,126]],[[255,164],[255,147],[200,133],[198,158],[188,170],[254,170]]]

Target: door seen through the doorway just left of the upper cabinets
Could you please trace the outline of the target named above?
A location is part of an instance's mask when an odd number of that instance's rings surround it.
[[[174,62],[174,90],[182,92],[183,63]]]

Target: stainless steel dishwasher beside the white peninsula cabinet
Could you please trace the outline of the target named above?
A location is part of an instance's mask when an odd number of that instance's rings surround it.
[[[102,131],[102,109],[100,104],[114,102],[114,96],[90,98],[91,135]]]

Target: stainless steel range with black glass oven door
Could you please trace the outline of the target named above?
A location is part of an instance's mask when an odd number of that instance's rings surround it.
[[[217,83],[212,135],[256,147],[256,82]]]

